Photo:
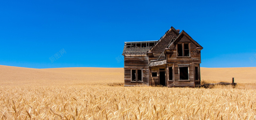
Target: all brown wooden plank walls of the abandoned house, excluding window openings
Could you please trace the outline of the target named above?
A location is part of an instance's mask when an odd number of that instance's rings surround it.
[[[177,57],[176,45],[177,43],[189,43],[190,46],[190,57]],[[170,49],[166,51],[166,56],[162,52],[154,52],[149,54],[149,58],[146,54],[125,54],[124,55],[124,86],[152,86],[158,85],[158,77],[151,77],[151,73],[148,69],[148,63],[151,60],[166,59],[167,64],[173,65],[173,81],[167,81],[167,86],[195,86],[200,85],[200,63],[201,63],[201,52],[196,50],[197,46],[191,42],[185,35],[180,36],[179,39],[175,41],[174,44],[170,46]],[[179,65],[189,66],[189,81],[179,80]],[[197,65],[199,67],[199,80],[194,80],[194,67]],[[131,69],[142,69],[143,70],[143,81],[142,82],[132,82],[131,81]],[[158,72],[158,68],[151,69]],[[168,72],[168,70],[166,70]],[[168,80],[168,74],[166,74],[166,79]],[[150,82],[151,79],[151,82]],[[150,83],[149,83],[150,82]]]

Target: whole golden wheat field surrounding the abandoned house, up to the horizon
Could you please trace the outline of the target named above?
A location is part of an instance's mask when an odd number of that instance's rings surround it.
[[[123,87],[123,68],[0,66],[1,119],[256,119],[256,68],[201,68],[205,88]]]

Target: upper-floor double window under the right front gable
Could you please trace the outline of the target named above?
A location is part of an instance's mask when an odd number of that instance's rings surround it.
[[[179,57],[190,56],[189,43],[178,43],[177,44],[177,56],[179,56]]]

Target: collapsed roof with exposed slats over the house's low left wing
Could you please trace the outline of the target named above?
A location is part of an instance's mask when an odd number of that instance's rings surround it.
[[[139,41],[139,42],[124,42],[125,54],[147,54],[147,52],[156,44],[156,41]]]

